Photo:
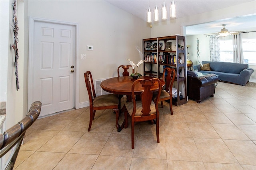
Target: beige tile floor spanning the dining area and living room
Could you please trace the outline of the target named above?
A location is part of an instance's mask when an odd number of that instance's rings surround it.
[[[14,168],[256,169],[255,84],[219,82],[214,97],[173,110],[170,115],[168,103],[160,107],[159,144],[155,125],[136,123],[134,149],[130,126],[117,132],[111,110],[96,111],[90,132],[88,107],[38,119],[26,132]]]

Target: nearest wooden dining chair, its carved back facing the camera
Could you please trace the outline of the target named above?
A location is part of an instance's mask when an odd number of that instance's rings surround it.
[[[153,92],[150,90],[150,87],[154,83],[158,85],[158,95],[156,101],[158,102],[161,94],[161,81],[157,78],[152,78],[149,80],[137,79],[132,84],[132,101],[124,104],[124,117],[125,117],[125,127],[128,127],[128,117],[132,119],[132,149],[134,149],[134,122],[142,121],[152,121],[156,120],[156,138],[159,143],[159,111],[158,105],[155,105],[152,101]],[[140,94],[140,101],[135,100],[134,89],[137,85],[144,87],[144,91]],[[152,123],[151,123],[152,124]]]

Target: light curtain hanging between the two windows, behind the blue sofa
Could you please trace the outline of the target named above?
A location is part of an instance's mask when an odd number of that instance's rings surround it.
[[[241,33],[234,35],[233,38],[233,59],[234,63],[244,63],[244,53]]]

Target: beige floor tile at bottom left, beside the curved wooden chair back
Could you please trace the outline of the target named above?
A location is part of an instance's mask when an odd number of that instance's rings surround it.
[[[65,153],[35,152],[16,170],[52,170],[64,156]]]

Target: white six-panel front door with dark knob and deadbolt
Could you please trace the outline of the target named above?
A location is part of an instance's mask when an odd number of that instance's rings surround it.
[[[42,102],[40,117],[74,108],[75,26],[36,21],[33,34],[28,101]]]

